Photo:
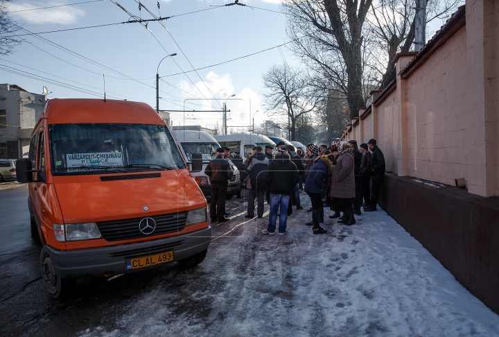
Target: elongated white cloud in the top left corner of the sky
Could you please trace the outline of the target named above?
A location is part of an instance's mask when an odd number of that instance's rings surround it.
[[[58,6],[61,4],[63,3],[44,3],[43,6],[35,6],[31,3],[10,3],[8,11],[13,18],[19,21],[25,21],[29,24],[73,24],[78,21],[80,17],[85,16],[84,10],[69,7],[16,12],[17,10]]]

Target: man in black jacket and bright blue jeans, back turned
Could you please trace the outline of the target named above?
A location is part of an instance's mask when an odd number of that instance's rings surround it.
[[[269,224],[263,234],[274,235],[277,210],[281,206],[279,214],[279,235],[286,234],[286,221],[288,221],[288,203],[290,195],[298,183],[298,168],[291,162],[290,155],[286,149],[279,149],[274,160],[268,166],[265,175],[265,184],[270,190],[270,215]]]

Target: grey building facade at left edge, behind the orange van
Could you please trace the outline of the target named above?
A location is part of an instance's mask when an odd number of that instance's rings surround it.
[[[0,84],[0,158],[27,157],[31,132],[45,103],[44,94]]]

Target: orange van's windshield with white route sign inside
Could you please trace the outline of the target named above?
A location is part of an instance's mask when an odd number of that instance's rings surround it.
[[[52,124],[49,139],[55,174],[185,168],[166,126]]]

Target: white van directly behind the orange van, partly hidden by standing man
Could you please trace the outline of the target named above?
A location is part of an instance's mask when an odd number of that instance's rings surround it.
[[[211,159],[216,157],[216,149],[220,148],[220,144],[204,131],[192,130],[177,130],[171,132],[175,143],[180,149],[180,153],[184,156],[189,170],[191,169],[191,157],[193,153],[201,153],[203,157],[203,168],[201,172],[191,172],[194,180],[198,183],[204,196],[211,194],[211,182],[209,177],[204,174],[204,168],[208,165]],[[229,160],[234,175],[232,175],[229,186],[227,187],[227,199],[232,198],[234,194],[240,198],[241,180],[238,168]]]

